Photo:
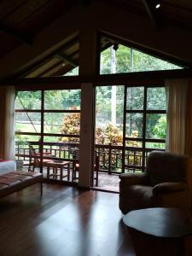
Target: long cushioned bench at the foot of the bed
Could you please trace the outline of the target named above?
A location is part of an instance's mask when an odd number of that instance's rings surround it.
[[[0,175],[0,197],[12,194],[34,183],[40,183],[42,195],[43,175],[39,172],[8,172]]]

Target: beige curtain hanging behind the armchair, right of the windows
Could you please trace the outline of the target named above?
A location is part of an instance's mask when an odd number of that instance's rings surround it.
[[[166,150],[177,154],[184,154],[188,84],[189,79],[166,80]]]

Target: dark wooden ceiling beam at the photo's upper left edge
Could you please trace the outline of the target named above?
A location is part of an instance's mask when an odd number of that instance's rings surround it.
[[[22,32],[15,30],[12,27],[5,26],[3,23],[0,23],[0,31],[5,32],[6,34],[9,34],[13,38],[20,39],[22,42],[26,44],[32,45],[33,43],[33,40],[31,37],[29,37],[28,35]]]

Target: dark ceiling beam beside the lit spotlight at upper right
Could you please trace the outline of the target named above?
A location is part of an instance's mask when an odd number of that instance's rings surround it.
[[[159,15],[159,9],[155,9],[155,3],[154,0],[143,0],[143,4],[145,6],[145,9],[148,13],[148,16],[154,26],[155,30],[160,30],[161,24],[160,24],[160,15]]]

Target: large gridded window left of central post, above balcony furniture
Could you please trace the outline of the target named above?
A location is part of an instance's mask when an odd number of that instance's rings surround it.
[[[15,101],[16,154],[27,160],[29,145],[56,158],[79,143],[80,90],[18,91]]]

